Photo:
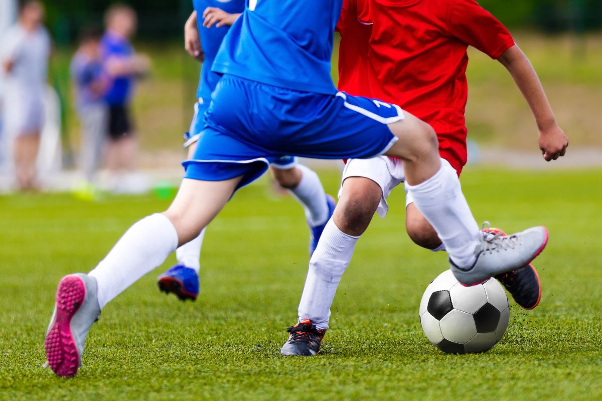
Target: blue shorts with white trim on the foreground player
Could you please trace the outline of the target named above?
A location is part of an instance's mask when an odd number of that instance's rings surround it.
[[[222,181],[261,176],[282,156],[368,159],[397,138],[387,124],[403,120],[399,106],[345,93],[288,90],[225,75],[205,112],[185,178]]]

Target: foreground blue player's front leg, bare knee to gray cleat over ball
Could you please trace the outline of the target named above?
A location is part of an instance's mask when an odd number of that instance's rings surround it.
[[[403,160],[406,188],[444,243],[452,271],[461,283],[479,283],[512,271],[541,253],[548,239],[544,227],[494,239],[480,233],[458,176],[439,159],[438,142],[430,126],[406,114],[389,128],[398,140],[386,154]]]

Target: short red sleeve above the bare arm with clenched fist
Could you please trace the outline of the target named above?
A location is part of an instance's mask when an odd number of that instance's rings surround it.
[[[514,46],[508,29],[474,0],[456,0],[448,25],[453,36],[494,60]]]

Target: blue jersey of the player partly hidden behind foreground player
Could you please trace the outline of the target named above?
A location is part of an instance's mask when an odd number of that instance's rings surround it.
[[[224,37],[230,29],[229,26],[217,28],[215,25],[211,28],[203,26],[203,11],[207,7],[217,7],[230,14],[238,14],[244,11],[245,0],[193,0],[194,10],[197,15],[197,26],[199,27],[200,44],[205,53],[205,61],[200,70],[199,88],[196,91],[196,97],[205,100],[208,105],[211,100],[211,93],[215,90],[220,75],[211,71],[211,65],[216,59],[217,51]]]

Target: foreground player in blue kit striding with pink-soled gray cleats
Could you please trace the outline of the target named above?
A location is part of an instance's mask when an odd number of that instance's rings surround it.
[[[247,0],[214,61],[213,71],[223,76],[173,203],[132,225],[89,274],[67,275],[58,284],[45,340],[53,372],[75,375],[101,309],[196,238],[237,189],[285,155],[402,159],[415,206],[445,244],[462,284],[520,268],[541,253],[544,227],[507,237],[480,234],[458,176],[442,167],[432,127],[397,105],[337,92],[330,58],[342,1]],[[357,237],[341,221],[335,210],[322,238],[352,251]],[[334,284],[330,266],[314,267],[311,285]],[[306,321],[291,329],[295,341],[309,336],[319,342],[323,333]]]

